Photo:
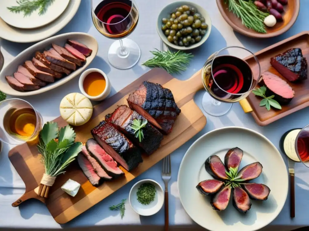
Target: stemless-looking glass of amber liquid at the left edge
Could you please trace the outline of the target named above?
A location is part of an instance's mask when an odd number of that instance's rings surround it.
[[[0,140],[7,144],[23,144],[36,140],[43,119],[30,103],[23,99],[6,99],[0,102]]]

